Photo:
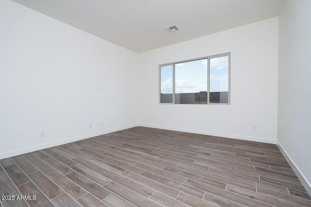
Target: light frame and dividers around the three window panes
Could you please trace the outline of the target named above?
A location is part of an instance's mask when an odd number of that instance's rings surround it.
[[[210,90],[210,86],[209,86],[209,79],[210,79],[210,67],[209,67],[209,61],[212,58],[219,58],[219,57],[224,57],[224,56],[228,56],[228,103],[209,103],[209,90]],[[185,62],[190,62],[190,61],[196,61],[196,60],[202,60],[202,59],[207,59],[207,104],[206,105],[230,105],[230,56],[231,53],[227,52],[227,53],[222,53],[222,54],[218,54],[218,55],[211,55],[211,56],[206,56],[206,57],[201,57],[201,58],[195,58],[195,59],[190,59],[190,60],[185,60],[185,61],[178,61],[178,62],[173,62],[173,63],[169,63],[169,64],[160,64],[159,65],[159,103],[160,104],[175,104],[175,64],[181,64],[181,63],[185,63]],[[169,66],[172,65],[173,66],[173,102],[172,103],[162,103],[161,102],[161,67],[163,66]]]

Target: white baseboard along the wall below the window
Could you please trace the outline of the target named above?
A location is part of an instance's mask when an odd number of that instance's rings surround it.
[[[189,133],[195,133],[195,134],[204,134],[204,135],[211,135],[211,136],[217,136],[217,137],[226,137],[226,138],[247,140],[247,141],[253,141],[253,142],[276,144],[276,140],[261,138],[261,137],[251,137],[251,136],[243,136],[243,135],[237,135],[237,134],[226,134],[226,133],[218,133],[218,132],[213,132],[213,131],[193,130],[193,129],[188,129],[188,128],[166,127],[166,126],[148,125],[148,124],[139,124],[139,126],[167,129],[167,130],[173,130],[173,131],[182,131],[182,132],[189,132]]]

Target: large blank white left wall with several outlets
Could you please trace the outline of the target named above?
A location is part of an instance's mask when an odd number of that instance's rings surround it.
[[[0,159],[137,126],[137,91],[138,54],[0,1]]]

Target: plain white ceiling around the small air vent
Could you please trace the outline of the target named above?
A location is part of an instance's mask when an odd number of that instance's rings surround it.
[[[134,52],[278,16],[283,0],[13,0]],[[176,24],[179,31],[166,27]]]

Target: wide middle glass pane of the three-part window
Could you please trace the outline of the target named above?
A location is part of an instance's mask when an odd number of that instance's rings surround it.
[[[175,103],[207,104],[207,59],[175,64]]]

